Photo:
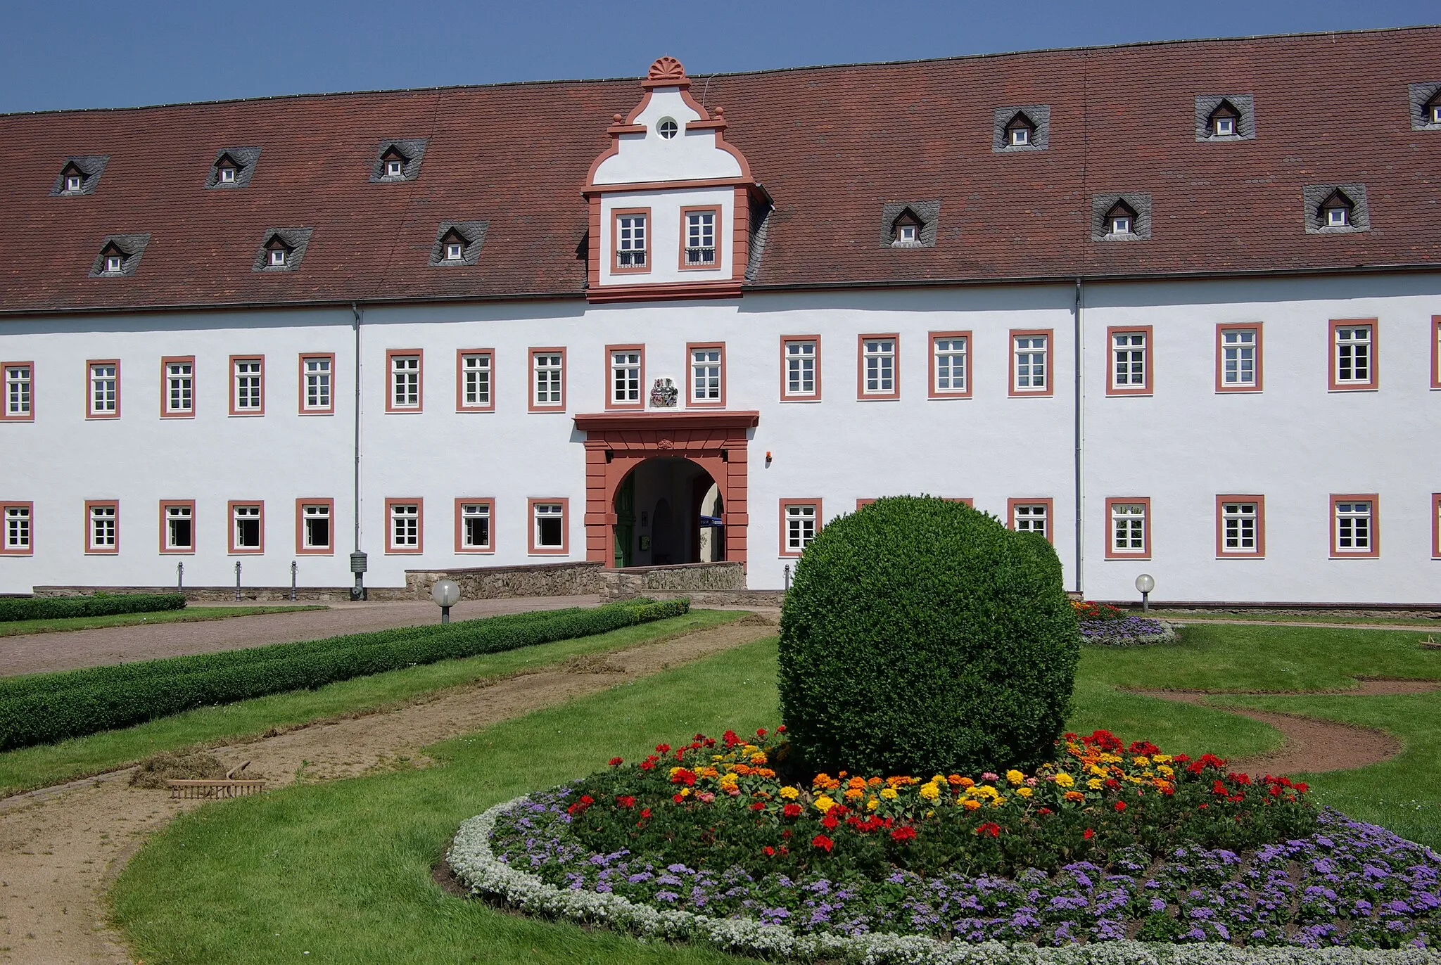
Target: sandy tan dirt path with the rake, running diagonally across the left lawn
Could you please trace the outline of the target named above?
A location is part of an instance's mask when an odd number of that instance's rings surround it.
[[[414,760],[428,743],[772,634],[769,622],[746,618],[213,753],[226,763],[249,760],[277,786],[294,782],[297,771],[305,781],[356,776],[402,756]],[[131,788],[128,778],[124,771],[0,801],[0,962],[128,965],[118,936],[105,926],[108,883],[146,835],[200,804]]]

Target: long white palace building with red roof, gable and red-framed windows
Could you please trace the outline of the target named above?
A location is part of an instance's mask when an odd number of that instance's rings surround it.
[[[122,78],[118,78],[122,81]],[[741,560],[1441,602],[1441,29],[0,117],[0,592]]]

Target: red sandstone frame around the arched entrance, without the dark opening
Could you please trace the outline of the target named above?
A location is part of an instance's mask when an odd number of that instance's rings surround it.
[[[660,457],[690,459],[715,480],[722,497],[725,557],[745,563],[746,429],[759,412],[597,412],[575,416],[585,432],[585,559],[612,565],[615,490],[631,470]]]

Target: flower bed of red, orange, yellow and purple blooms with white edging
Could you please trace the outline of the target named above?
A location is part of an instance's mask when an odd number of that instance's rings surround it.
[[[529,910],[795,958],[1241,961],[1441,935],[1437,854],[1210,755],[1097,732],[1033,775],[803,788],[764,737],[661,748],[468,822],[452,867]]]

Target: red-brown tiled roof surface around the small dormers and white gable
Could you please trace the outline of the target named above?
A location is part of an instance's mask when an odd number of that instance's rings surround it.
[[[775,202],[754,287],[1441,265],[1441,27],[1196,40],[696,76]],[[1258,137],[1197,143],[1196,95],[1252,94]],[[0,313],[578,297],[579,189],[637,81],[513,84],[0,117]],[[994,108],[1049,104],[1049,150],[991,150]],[[415,181],[369,181],[385,138],[428,138]],[[216,151],[262,148],[206,189]],[[69,156],[98,189],[52,197]],[[1301,189],[1366,186],[1373,229],[1308,235]],[[1150,193],[1150,241],[1091,241],[1091,197]],[[880,248],[885,202],[941,200],[935,248]],[[442,220],[490,228],[474,268],[429,268]],[[255,272],[264,233],[314,233]],[[89,278],[148,233],[133,277]]]

